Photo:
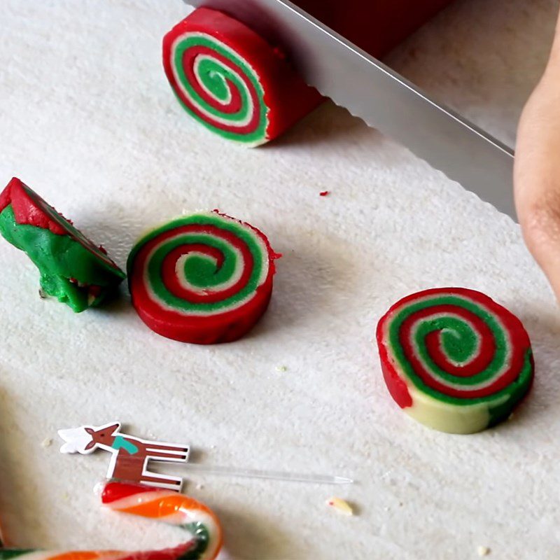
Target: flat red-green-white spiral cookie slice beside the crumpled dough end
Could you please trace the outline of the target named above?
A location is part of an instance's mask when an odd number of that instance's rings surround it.
[[[251,225],[211,212],[148,233],[127,269],[132,304],[158,334],[196,344],[231,342],[264,313],[276,255]]]

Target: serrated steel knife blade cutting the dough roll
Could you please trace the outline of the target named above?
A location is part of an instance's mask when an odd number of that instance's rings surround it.
[[[514,152],[289,0],[186,0],[280,44],[304,80],[516,219]]]

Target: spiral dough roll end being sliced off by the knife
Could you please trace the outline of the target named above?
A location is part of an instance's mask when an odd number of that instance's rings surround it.
[[[167,33],[163,66],[191,116],[247,146],[278,137],[323,99],[279,50],[209,8],[195,10]]]

